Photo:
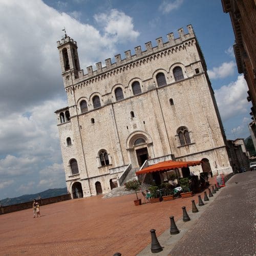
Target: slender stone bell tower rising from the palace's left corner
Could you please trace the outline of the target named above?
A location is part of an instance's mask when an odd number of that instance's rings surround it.
[[[65,31],[65,36],[57,41],[59,50],[60,66],[64,86],[70,86],[79,77],[80,64],[77,53],[77,44]]]

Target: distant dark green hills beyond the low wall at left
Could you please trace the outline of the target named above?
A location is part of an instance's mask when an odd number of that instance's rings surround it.
[[[23,196],[15,197],[15,198],[5,198],[5,199],[1,200],[1,205],[6,206],[6,205],[12,205],[12,204],[25,203],[25,202],[33,201],[34,199],[38,199],[39,196],[41,198],[49,198],[49,197],[57,197],[57,196],[61,196],[61,195],[66,195],[66,194],[68,194],[67,187],[51,188],[51,189],[47,189],[47,190],[42,191],[37,194],[23,195]]]

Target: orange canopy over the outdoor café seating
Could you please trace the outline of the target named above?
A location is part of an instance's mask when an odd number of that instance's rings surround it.
[[[201,161],[182,162],[182,161],[168,160],[168,161],[150,165],[142,170],[138,170],[138,172],[136,172],[136,175],[154,173],[154,172],[163,172],[165,170],[173,170],[176,168],[195,166],[195,165],[200,165],[200,164],[201,164]]]

